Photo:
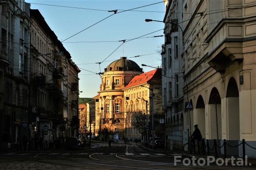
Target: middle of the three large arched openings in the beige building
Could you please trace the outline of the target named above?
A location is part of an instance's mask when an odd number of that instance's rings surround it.
[[[217,114],[216,114],[217,113]],[[217,120],[216,121],[216,116]],[[221,122],[221,98],[218,89],[215,87],[211,90],[209,98],[209,138],[222,139],[222,122]],[[218,126],[218,131],[217,131]]]

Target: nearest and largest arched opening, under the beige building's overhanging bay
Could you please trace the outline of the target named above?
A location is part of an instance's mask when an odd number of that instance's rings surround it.
[[[230,78],[227,93],[227,140],[240,140],[239,92],[234,78]]]

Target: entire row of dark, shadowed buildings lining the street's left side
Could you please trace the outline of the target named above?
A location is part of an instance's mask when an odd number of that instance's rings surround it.
[[[38,10],[24,0],[0,6],[0,150],[40,148],[68,136],[68,62],[77,67]]]

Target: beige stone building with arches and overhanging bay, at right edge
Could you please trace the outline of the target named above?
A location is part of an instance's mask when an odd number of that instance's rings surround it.
[[[184,0],[184,127],[203,138],[256,144],[255,0]],[[224,10],[225,9],[225,10]],[[216,12],[217,11],[217,12]],[[186,14],[185,14],[186,13]],[[218,129],[218,131],[217,131]],[[217,133],[218,132],[218,133]],[[256,156],[246,146],[246,155]],[[242,155],[240,148],[229,154]]]

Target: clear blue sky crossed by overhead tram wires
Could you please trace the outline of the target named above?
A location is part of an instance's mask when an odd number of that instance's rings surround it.
[[[118,46],[122,44],[122,42],[118,41],[133,39],[164,28],[164,24],[161,22],[145,22],[146,18],[160,21],[163,20],[165,15],[165,7],[164,3],[162,2],[163,0],[25,1],[27,3],[31,3],[31,9],[38,9],[41,12],[41,15],[45,18],[45,21],[48,23],[49,27],[56,34],[58,39],[63,41],[62,43],[67,51],[71,54],[72,60],[80,68],[79,91],[83,92],[80,93],[79,97],[93,97],[98,94],[97,92],[100,88],[101,78],[98,74],[94,74],[100,72],[99,64],[97,63],[102,62]],[[161,3],[154,4],[158,2]],[[110,10],[128,10],[149,4],[154,5],[136,9],[140,11],[125,11],[106,18],[113,14],[113,12],[108,12]],[[86,10],[71,7],[99,9],[105,11]],[[103,18],[106,19],[88,28],[87,30],[84,30]],[[78,33],[80,31],[82,32]],[[78,34],[71,37],[76,33]],[[161,45],[164,44],[164,37],[153,37],[159,35],[163,35],[163,30],[144,36],[146,38],[140,38],[124,43],[120,46],[120,48],[113,52],[112,55],[105,59],[107,62],[100,64],[101,72],[103,72],[104,68],[106,68],[111,62],[113,62],[109,60],[120,59],[121,56],[134,57],[137,55],[143,55],[136,58],[131,58],[131,60],[135,61],[141,68],[143,68],[144,72],[153,70],[154,68],[142,67],[141,64],[146,64],[152,67],[161,66],[161,55],[158,51],[161,49]]]

